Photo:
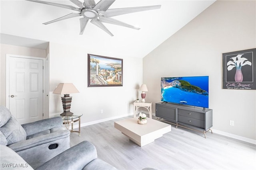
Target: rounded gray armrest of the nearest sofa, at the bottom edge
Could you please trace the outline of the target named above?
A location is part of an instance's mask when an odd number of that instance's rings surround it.
[[[88,141],[83,141],[45,162],[36,170],[82,170],[84,166],[96,158],[97,151],[94,145]]]

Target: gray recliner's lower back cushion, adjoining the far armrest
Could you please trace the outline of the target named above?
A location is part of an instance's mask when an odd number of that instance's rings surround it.
[[[5,125],[1,127],[1,132],[4,134],[7,145],[26,140],[26,131],[18,123],[12,115]]]

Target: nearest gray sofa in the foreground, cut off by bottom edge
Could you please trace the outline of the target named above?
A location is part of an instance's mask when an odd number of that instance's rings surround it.
[[[33,168],[16,152],[0,145],[1,170],[32,170]],[[33,154],[33,153],[30,153]],[[48,160],[36,170],[114,170],[114,166],[97,158],[94,145],[83,141]]]

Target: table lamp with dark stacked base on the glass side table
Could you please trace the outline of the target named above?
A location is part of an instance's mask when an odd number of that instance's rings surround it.
[[[79,93],[73,83],[60,83],[57,88],[53,92],[54,94],[64,94],[64,97],[61,97],[62,106],[63,106],[63,113],[60,115],[62,116],[69,116],[73,115],[70,112],[72,96],[69,96],[70,93]]]

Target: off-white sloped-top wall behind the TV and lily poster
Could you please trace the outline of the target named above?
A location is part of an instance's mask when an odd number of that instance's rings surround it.
[[[153,106],[160,102],[161,77],[208,75],[213,128],[255,140],[256,90],[222,89],[222,53],[252,48],[256,48],[256,1],[216,1],[144,57],[147,99]]]

